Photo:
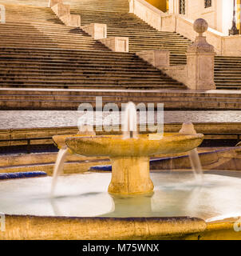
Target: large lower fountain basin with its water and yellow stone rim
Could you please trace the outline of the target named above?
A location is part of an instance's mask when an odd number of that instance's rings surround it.
[[[234,230],[240,178],[207,174],[203,186],[196,186],[187,170],[152,175],[154,194],[137,198],[109,195],[109,173],[62,176],[53,201],[50,177],[4,181],[0,210],[6,231],[0,239],[241,238]]]

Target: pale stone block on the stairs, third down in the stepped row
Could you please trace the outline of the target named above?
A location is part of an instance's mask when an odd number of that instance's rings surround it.
[[[107,38],[107,25],[103,23],[91,23],[81,26],[87,34],[91,35],[95,40]]]

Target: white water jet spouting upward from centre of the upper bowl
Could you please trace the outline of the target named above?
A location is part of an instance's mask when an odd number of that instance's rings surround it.
[[[136,105],[128,102],[122,120],[123,138],[137,138],[137,112]]]

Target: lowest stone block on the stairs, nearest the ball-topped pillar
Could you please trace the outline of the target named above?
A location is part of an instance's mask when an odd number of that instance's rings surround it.
[[[136,53],[136,55],[158,69],[170,66],[169,50],[144,50]]]

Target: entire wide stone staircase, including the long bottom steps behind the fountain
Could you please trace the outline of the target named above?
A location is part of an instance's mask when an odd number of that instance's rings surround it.
[[[46,7],[48,1],[10,2],[22,5],[6,5],[6,24],[0,24],[1,110],[76,110],[81,102],[94,104],[96,96],[119,106],[133,101],[164,102],[166,110],[241,109],[239,93],[184,90],[184,85],[138,58],[135,52],[140,50],[163,49],[171,51],[172,65],[185,64],[192,42],[156,31],[128,14],[122,0],[113,5],[113,0],[89,0],[93,10],[87,10],[87,0],[64,2],[71,3],[72,14],[81,14],[82,25],[104,22],[109,36],[128,36],[129,54],[111,52],[81,29],[65,26]],[[37,3],[40,6],[34,6]],[[240,63],[241,58],[215,58],[219,89],[241,88]]]

